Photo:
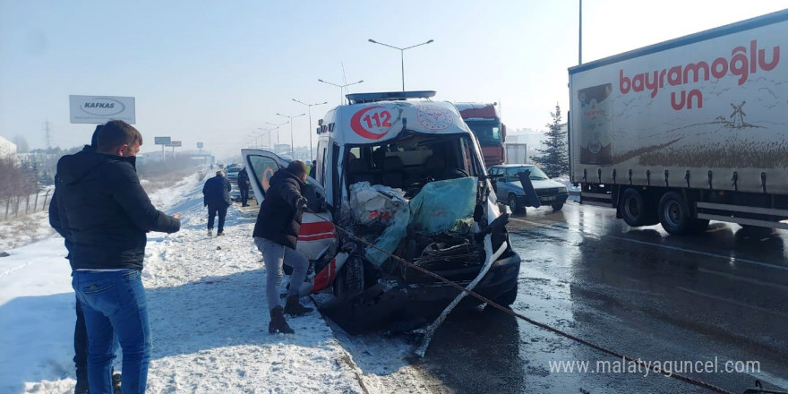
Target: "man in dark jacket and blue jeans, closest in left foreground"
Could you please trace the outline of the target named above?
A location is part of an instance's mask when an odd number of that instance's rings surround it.
[[[150,362],[150,326],[141,270],[146,233],[174,233],[179,214],[156,210],[134,167],[142,136],[131,124],[110,121],[96,151],[57,163],[56,220],[69,237],[72,286],[88,336],[90,392],[112,392],[113,337],[123,349],[124,394],[143,393]],[[52,212],[50,211],[50,214]]]

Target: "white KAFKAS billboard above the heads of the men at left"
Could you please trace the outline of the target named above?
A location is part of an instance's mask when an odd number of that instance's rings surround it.
[[[71,123],[103,124],[110,120],[137,123],[133,97],[70,95]]]

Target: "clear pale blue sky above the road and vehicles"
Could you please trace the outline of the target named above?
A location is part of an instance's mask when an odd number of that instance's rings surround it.
[[[584,62],[788,8],[788,1],[586,0]],[[313,123],[338,104],[323,79],[364,80],[352,92],[407,90],[436,99],[498,101],[504,123],[544,130],[556,103],[569,109],[567,68],[578,63],[578,0],[93,1],[0,0],[0,135],[44,145],[90,140],[70,124],[68,96],[136,98],[136,127],[218,155],[313,107]],[[308,142],[306,116],[295,145]],[[289,126],[281,129],[289,143]],[[185,149],[185,148],[184,148]]]

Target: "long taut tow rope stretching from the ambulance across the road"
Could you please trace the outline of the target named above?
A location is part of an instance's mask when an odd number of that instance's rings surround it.
[[[330,221],[327,218],[322,218],[320,215],[318,215],[317,213],[313,212],[313,210],[305,209],[305,211],[313,213],[318,218],[321,218],[321,219],[326,220],[326,221]],[[469,289],[467,289],[465,287],[461,287],[458,284],[450,281],[449,279],[441,277],[440,275],[434,273],[433,271],[425,270],[424,268],[419,267],[419,266],[415,265],[414,263],[412,263],[410,261],[406,261],[405,259],[397,256],[396,254],[384,251],[380,247],[367,242],[366,240],[362,239],[359,236],[355,236],[355,234],[351,233],[350,231],[348,231],[348,230],[346,230],[346,229],[344,229],[342,227],[335,226],[335,228],[337,228],[340,232],[342,232],[346,236],[349,236],[349,237],[355,239],[356,241],[359,241],[359,242],[361,242],[363,244],[366,244],[367,246],[373,247],[374,249],[377,249],[381,253],[386,253],[388,256],[390,256],[395,261],[398,261],[398,262],[400,262],[402,264],[405,264],[405,266],[408,267],[408,268],[412,268],[414,270],[421,271],[422,273],[424,273],[424,274],[426,274],[428,276],[431,276],[433,278],[436,278],[436,279],[440,280],[441,282],[444,282],[447,285],[449,285],[451,287],[454,287],[454,288],[458,289],[461,292],[466,293],[467,295],[474,296],[476,299],[478,299],[478,300],[480,300],[480,301],[482,301],[482,302],[484,302],[484,303],[486,303],[488,305],[492,305],[492,307],[494,307],[495,309],[500,310],[503,313],[509,313],[511,316],[514,316],[514,317],[516,317],[516,318],[518,318],[518,319],[520,319],[522,321],[527,321],[527,322],[535,325],[536,327],[539,327],[539,328],[544,329],[544,330],[548,330],[548,331],[550,331],[550,332],[552,332],[554,334],[560,335],[561,337],[569,338],[569,339],[571,339],[571,340],[573,340],[575,342],[578,342],[580,344],[586,345],[587,347],[594,348],[594,349],[596,349],[596,350],[598,350],[598,351],[600,351],[602,353],[605,353],[607,355],[612,355],[612,356],[615,356],[617,358],[621,358],[622,360],[638,364],[640,366],[645,367],[647,370],[653,371],[654,373],[659,373],[659,374],[662,374],[662,375],[667,376],[669,378],[674,378],[674,379],[677,379],[679,381],[684,381],[686,383],[690,383],[692,385],[695,385],[695,386],[698,386],[698,387],[702,387],[702,388],[707,389],[707,390],[712,390],[712,391],[715,391],[717,393],[721,393],[721,394],[735,394],[732,391],[725,390],[725,389],[723,389],[721,387],[715,386],[714,384],[707,383],[706,381],[700,381],[698,379],[692,378],[690,376],[683,375],[681,373],[665,373],[664,371],[656,368],[655,366],[650,366],[650,365],[646,364],[646,362],[642,361],[639,358],[636,359],[634,357],[630,357],[629,355],[624,355],[624,354],[621,354],[621,353],[616,352],[614,350],[610,350],[610,349],[608,349],[606,347],[601,347],[599,345],[595,345],[594,343],[591,343],[591,342],[587,341],[586,339],[575,337],[574,335],[571,335],[571,334],[569,334],[567,332],[555,329],[552,326],[549,326],[549,325],[544,324],[542,322],[535,321],[533,319],[527,318],[526,316],[524,316],[521,313],[514,312],[514,311],[512,311],[511,309],[509,309],[509,308],[507,308],[505,306],[501,306],[500,304],[496,304],[496,303],[492,302],[492,300],[488,299],[484,295],[480,295],[480,294],[476,293],[473,290],[469,290]],[[426,348],[424,348],[424,351],[426,351]],[[424,354],[422,354],[421,356],[423,357]],[[760,386],[760,382],[756,381],[756,383],[758,385],[758,389],[755,389],[755,390],[757,390],[757,391],[751,391],[751,390],[754,390],[754,389],[748,389],[748,390],[746,390],[744,392],[745,393],[775,393],[775,394],[781,394],[781,391],[763,390],[763,389],[761,389],[759,387]]]

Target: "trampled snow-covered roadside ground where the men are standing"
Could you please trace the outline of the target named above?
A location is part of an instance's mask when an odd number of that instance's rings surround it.
[[[148,392],[434,392],[405,361],[413,345],[404,339],[335,337],[319,313],[288,319],[295,335],[270,335],[265,271],[251,238],[256,207],[234,205],[226,236],[209,237],[201,186],[189,176],[151,195],[158,209],[184,217],[178,233],[149,235],[142,271],[154,340]],[[39,227],[46,218],[36,218]],[[7,252],[0,392],[73,392],[74,295],[63,239],[50,235]]]

